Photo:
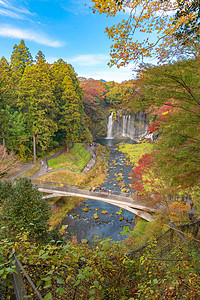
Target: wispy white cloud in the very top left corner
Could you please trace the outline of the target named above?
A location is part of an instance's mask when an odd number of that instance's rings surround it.
[[[13,5],[7,0],[0,0],[0,15],[13,19],[24,19],[25,15],[33,15],[28,9],[19,4]]]

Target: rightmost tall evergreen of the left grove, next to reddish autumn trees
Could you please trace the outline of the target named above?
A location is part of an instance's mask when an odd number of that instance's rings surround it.
[[[57,137],[65,140],[68,149],[84,129],[82,91],[72,66],[62,59],[53,64],[51,76],[57,106]]]

